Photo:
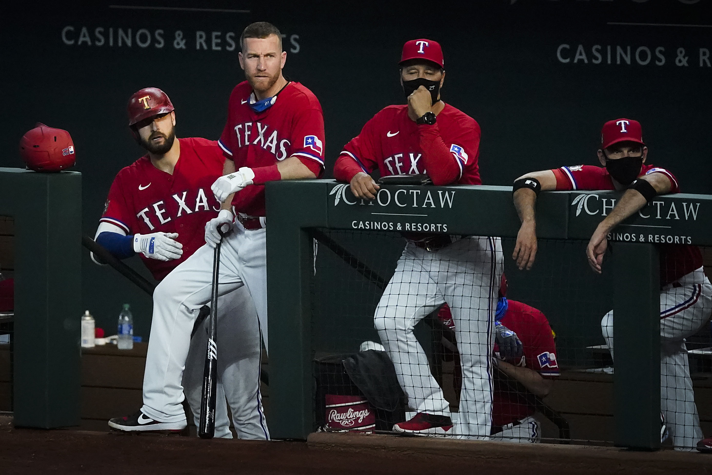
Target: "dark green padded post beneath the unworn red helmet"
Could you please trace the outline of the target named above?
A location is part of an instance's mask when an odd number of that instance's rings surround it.
[[[14,424],[77,426],[81,174],[0,168],[0,216],[14,217]]]

